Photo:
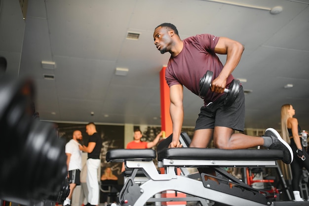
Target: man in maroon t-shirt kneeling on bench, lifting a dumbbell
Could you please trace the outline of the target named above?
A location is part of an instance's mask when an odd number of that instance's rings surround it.
[[[184,118],[183,85],[198,95],[199,80],[210,70],[213,72],[211,91],[204,98],[190,147],[206,148],[213,138],[214,146],[220,149],[247,149],[255,146],[280,149],[284,153],[283,162],[292,162],[291,147],[273,128],[266,129],[262,137],[234,133],[234,130],[244,129],[244,92],[240,86],[239,95],[231,106],[224,105],[223,92],[234,79],[232,71],[244,50],[241,43],[209,34],[181,40],[173,24],[163,23],[154,30],[154,44],[162,54],[171,54],[165,71],[165,79],[170,87],[170,115],[173,123],[173,138],[169,147],[180,147],[179,136]],[[216,53],[227,55],[225,65]]]

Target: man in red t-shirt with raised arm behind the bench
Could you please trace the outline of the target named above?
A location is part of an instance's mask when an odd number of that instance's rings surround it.
[[[158,133],[152,142],[143,142],[141,138],[143,137],[143,133],[140,129],[134,130],[134,140],[129,142],[126,146],[126,149],[148,149],[154,147],[160,140],[163,131]],[[125,170],[124,163],[122,163],[121,172]]]

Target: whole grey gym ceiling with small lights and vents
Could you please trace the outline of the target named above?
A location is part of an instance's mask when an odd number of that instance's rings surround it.
[[[25,20],[17,0],[0,3],[6,73],[34,79],[40,120],[160,125],[159,72],[170,54],[157,51],[153,32],[170,22],[181,39],[209,33],[244,45],[233,76],[252,90],[245,127],[280,128],[280,107],[290,103],[309,130],[309,0],[28,0]],[[275,6],[282,12],[271,14]],[[203,101],[184,92],[184,126],[193,126]]]

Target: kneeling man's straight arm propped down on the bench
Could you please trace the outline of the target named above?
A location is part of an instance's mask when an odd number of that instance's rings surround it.
[[[169,112],[173,124],[173,139],[169,147],[180,147],[179,135],[184,120],[183,106],[183,85],[174,84],[170,87],[170,108]]]

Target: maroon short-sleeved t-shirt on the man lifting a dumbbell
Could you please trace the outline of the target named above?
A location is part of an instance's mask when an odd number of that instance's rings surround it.
[[[169,86],[182,84],[194,94],[198,95],[199,80],[210,70],[213,72],[212,80],[216,79],[222,71],[223,64],[215,53],[215,46],[219,37],[201,34],[189,37],[184,42],[182,51],[175,57],[170,57],[165,71],[165,79]],[[233,80],[230,75],[227,87]],[[209,90],[204,98],[204,104],[214,102],[224,93],[215,93]]]

